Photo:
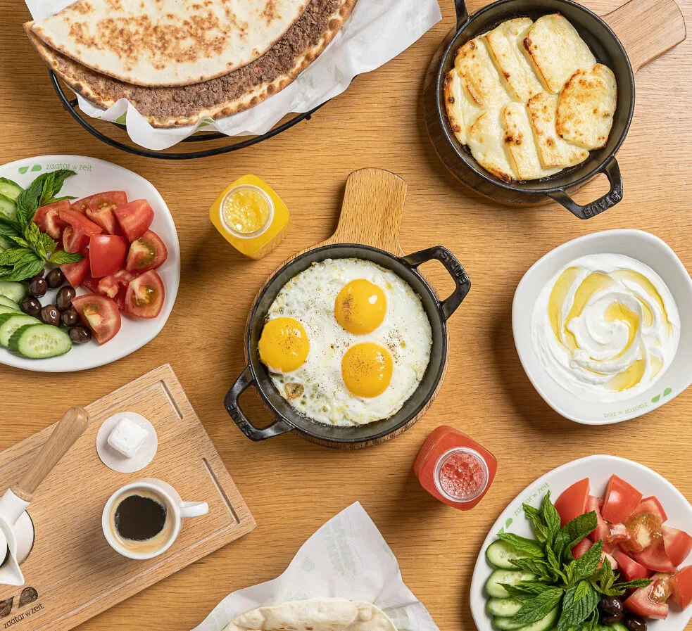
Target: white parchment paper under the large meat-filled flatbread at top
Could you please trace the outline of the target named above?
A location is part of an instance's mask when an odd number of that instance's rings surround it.
[[[72,1],[26,0],[26,4],[34,20],[41,20]],[[173,146],[202,126],[227,136],[264,134],[288,113],[307,112],[341,94],[353,77],[405,51],[441,18],[437,0],[359,0],[327,50],[289,87],[249,110],[217,121],[208,118],[194,126],[154,129],[125,98],[103,111],[80,96],[80,108],[94,118],[124,122],[132,141],[154,150]]]

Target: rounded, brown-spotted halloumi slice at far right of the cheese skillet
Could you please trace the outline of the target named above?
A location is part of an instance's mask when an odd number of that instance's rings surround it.
[[[597,63],[591,70],[577,70],[560,92],[555,128],[585,149],[604,147],[616,106],[617,83],[608,66]]]

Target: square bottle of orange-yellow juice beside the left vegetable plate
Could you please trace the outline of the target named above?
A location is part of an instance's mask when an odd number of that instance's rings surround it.
[[[244,175],[223,191],[209,210],[215,228],[241,254],[259,259],[290,229],[289,210],[256,175]]]

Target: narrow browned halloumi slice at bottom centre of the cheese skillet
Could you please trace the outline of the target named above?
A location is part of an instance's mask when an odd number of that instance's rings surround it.
[[[505,146],[517,179],[540,179],[560,171],[559,168],[543,167],[529,122],[527,106],[524,103],[508,103],[502,109],[502,118],[505,127]]]

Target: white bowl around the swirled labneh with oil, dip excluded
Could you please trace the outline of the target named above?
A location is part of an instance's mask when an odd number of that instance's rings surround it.
[[[677,302],[680,342],[672,364],[653,385],[626,401],[581,399],[548,374],[531,344],[534,305],[555,272],[586,255],[623,254],[646,263],[661,276]],[[584,425],[608,425],[651,412],[692,383],[692,279],[674,251],[658,236],[641,230],[607,230],[567,241],[536,261],[517,286],[512,302],[512,331],[519,359],[529,380],[555,412]]]

